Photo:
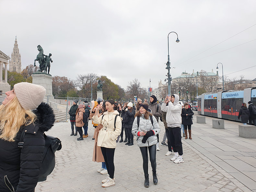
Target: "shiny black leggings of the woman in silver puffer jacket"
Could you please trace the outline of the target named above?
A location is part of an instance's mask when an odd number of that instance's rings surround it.
[[[140,151],[141,151],[142,159],[143,159],[144,175],[148,174],[147,149],[149,151],[149,159],[150,159],[152,171],[157,171],[157,161],[156,161],[157,146],[156,145],[151,145],[151,146],[148,146],[148,147],[140,147]]]

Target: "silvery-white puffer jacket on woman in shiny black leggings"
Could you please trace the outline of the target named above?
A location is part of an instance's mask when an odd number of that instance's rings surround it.
[[[137,124],[137,117],[135,117],[134,119],[132,134],[134,136],[137,136],[137,143],[139,147],[148,147],[148,146],[157,144],[157,134],[161,131],[161,129],[159,128],[157,119],[154,116],[152,116],[152,118],[153,118],[153,125],[151,123],[150,118],[145,119],[144,114],[142,114],[140,117],[139,127]],[[146,143],[142,142],[143,136],[138,136],[138,132],[143,130],[147,130],[147,131],[153,130],[155,133],[154,135],[150,136],[146,140]]]

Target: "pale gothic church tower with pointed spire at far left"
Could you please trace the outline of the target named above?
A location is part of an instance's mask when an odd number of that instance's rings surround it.
[[[21,60],[20,60],[18,43],[17,43],[17,37],[15,37],[12,56],[9,61],[9,71],[16,71],[17,73],[21,73]]]

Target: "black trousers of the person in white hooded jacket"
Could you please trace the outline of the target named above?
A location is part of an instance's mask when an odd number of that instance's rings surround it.
[[[183,154],[180,127],[168,127],[169,138],[171,141],[171,146],[174,152],[179,152],[179,155]]]

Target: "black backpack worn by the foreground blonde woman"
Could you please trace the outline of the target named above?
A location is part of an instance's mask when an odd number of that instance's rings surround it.
[[[61,141],[57,137],[45,135],[45,147],[43,151],[43,161],[40,168],[38,182],[45,181],[46,177],[50,175],[55,167],[55,152],[61,150]],[[22,131],[18,147],[23,147],[23,140],[25,137],[25,130]]]

